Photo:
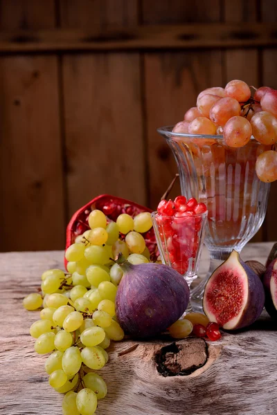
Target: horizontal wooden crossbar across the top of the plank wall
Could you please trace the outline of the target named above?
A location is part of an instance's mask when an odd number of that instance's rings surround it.
[[[238,2],[240,3],[240,2]],[[12,30],[0,33],[0,53],[253,48],[277,46],[274,24],[91,25],[85,29]],[[237,50],[233,50],[236,57]],[[239,55],[242,50],[238,50]],[[248,51],[247,54],[248,55]],[[232,62],[232,54],[230,54]],[[247,59],[245,58],[245,62]],[[244,66],[241,66],[244,69]],[[237,67],[239,72],[240,67]]]

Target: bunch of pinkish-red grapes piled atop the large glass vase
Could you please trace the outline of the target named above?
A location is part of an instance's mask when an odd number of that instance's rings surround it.
[[[243,147],[255,138],[262,145],[256,161],[258,178],[265,183],[277,180],[277,90],[269,86],[256,89],[233,80],[225,88],[205,89],[197,97],[197,107],[186,111],[184,121],[172,131],[223,135],[223,144],[233,148]],[[213,143],[215,140],[205,140],[205,145]]]

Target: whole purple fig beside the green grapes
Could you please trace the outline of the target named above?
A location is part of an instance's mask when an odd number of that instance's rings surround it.
[[[120,265],[124,275],[116,294],[116,317],[125,333],[149,338],[184,314],[190,290],[184,277],[162,264]]]

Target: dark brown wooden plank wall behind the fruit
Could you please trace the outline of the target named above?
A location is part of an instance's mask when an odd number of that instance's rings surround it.
[[[0,0],[0,250],[63,248],[101,193],[155,208],[177,170],[157,127],[208,86],[277,88],[276,19],[276,0]]]

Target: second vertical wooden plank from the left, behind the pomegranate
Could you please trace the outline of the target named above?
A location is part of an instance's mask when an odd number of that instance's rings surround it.
[[[128,1],[126,10],[125,3],[119,1],[114,9],[113,1],[62,1],[62,27],[134,24],[136,1]],[[98,21],[95,10],[100,6]],[[65,55],[63,82],[69,214],[102,193],[144,205],[139,55]]]

